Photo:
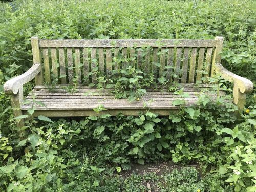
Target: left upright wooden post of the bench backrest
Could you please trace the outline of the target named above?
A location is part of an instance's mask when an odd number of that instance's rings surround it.
[[[39,48],[39,38],[31,37],[31,47],[33,54],[33,63],[40,64],[40,72],[35,77],[35,84],[42,84],[44,82],[43,70],[42,70],[42,62],[41,62],[41,51]]]

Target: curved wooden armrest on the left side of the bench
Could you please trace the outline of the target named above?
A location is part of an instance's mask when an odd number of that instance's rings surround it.
[[[35,63],[28,71],[24,74],[14,77],[8,80],[4,84],[4,91],[7,95],[15,95],[18,93],[18,89],[25,83],[31,81],[40,72],[40,64]]]

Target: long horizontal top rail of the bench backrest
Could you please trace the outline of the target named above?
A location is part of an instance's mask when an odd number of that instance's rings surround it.
[[[113,40],[39,40],[41,48],[115,48],[115,47],[216,47],[216,40],[156,40],[156,39],[113,39]]]

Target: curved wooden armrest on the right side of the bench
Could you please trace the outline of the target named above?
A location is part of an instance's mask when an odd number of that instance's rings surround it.
[[[253,83],[244,77],[240,77],[224,68],[221,63],[216,63],[215,71],[224,79],[234,83],[234,86],[239,88],[241,93],[251,93],[253,91]]]

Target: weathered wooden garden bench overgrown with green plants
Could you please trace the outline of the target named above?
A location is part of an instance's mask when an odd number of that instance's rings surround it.
[[[90,116],[95,115],[93,108],[100,104],[108,109],[105,113],[111,115],[120,111],[124,115],[138,115],[139,111],[145,110],[141,100],[128,102],[127,99],[115,99],[108,91],[88,87],[90,82],[96,82],[95,75],[88,78],[96,65],[106,76],[111,76],[112,70],[119,70],[127,65],[135,65],[146,72],[154,71],[157,78],[164,71],[167,71],[167,78],[170,78],[169,73],[174,70],[179,76],[175,80],[181,83],[184,92],[190,94],[187,105],[196,103],[197,94],[207,86],[204,83],[195,86],[195,82],[202,77],[211,77],[214,73],[220,73],[224,79],[234,84],[233,102],[240,110],[245,104],[245,94],[253,90],[250,80],[229,72],[221,65],[223,37],[216,37],[215,40],[40,40],[32,37],[31,44],[33,66],[26,73],[7,81],[4,86],[5,93],[11,95],[15,116],[26,114],[32,108],[32,103],[24,103],[23,85],[34,78],[36,86],[26,100],[32,101],[35,97],[45,104],[34,104],[34,116]],[[143,47],[150,47],[146,54],[142,54]],[[124,59],[135,59],[119,66],[114,59],[118,54]],[[156,67],[154,63],[159,63],[160,67]],[[166,69],[165,66],[173,66],[174,69]],[[202,73],[203,70],[205,73]],[[61,76],[54,92],[48,91],[45,86],[45,82],[51,83],[53,80],[51,73]],[[63,87],[72,84],[75,76],[80,84],[78,92],[67,93]],[[85,95],[86,92],[94,94]],[[148,89],[143,97],[145,101],[153,100],[149,104],[150,110],[159,115],[169,115],[170,110],[177,109],[177,106],[172,105],[172,101],[177,98],[173,92]],[[214,99],[217,95],[211,97]],[[18,126],[23,126],[23,121],[19,121]]]

